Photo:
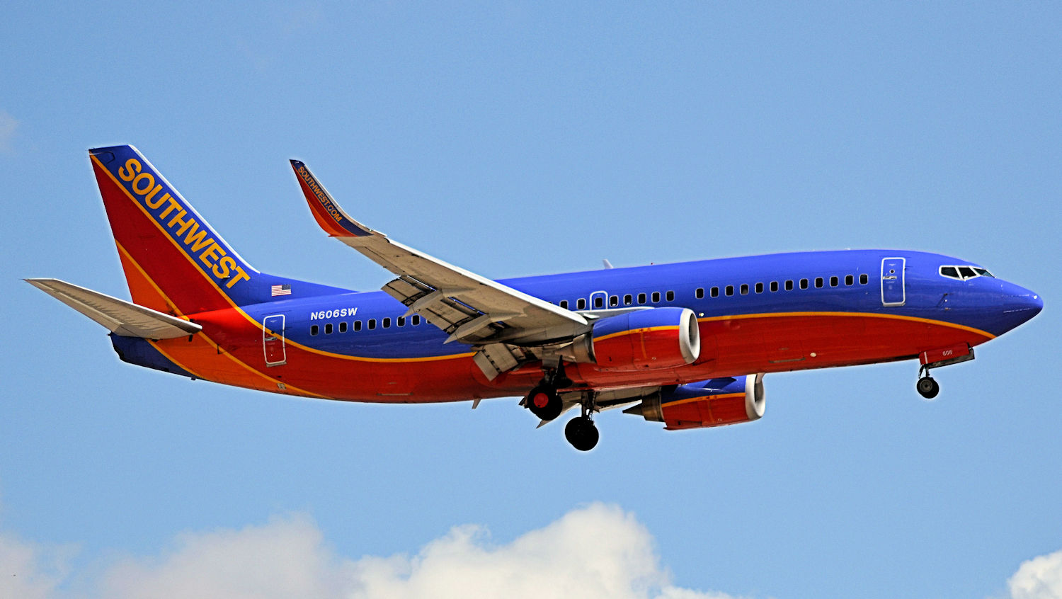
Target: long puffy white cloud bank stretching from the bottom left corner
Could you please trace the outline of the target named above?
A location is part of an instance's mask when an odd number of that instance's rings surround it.
[[[57,597],[62,579],[40,575],[27,546],[11,547],[10,563],[0,554],[6,564],[0,574],[17,570],[32,584],[6,594],[0,587],[0,596]],[[357,560],[337,555],[310,518],[275,517],[240,530],[182,534],[171,550],[113,564],[89,586],[89,596],[118,599],[733,599],[672,585],[649,531],[633,515],[601,503],[508,544],[493,544],[482,527],[459,526],[416,554]]]

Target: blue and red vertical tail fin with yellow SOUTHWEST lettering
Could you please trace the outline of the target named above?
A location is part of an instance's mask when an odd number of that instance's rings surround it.
[[[89,157],[135,303],[189,314],[340,291],[255,270],[136,148]]]

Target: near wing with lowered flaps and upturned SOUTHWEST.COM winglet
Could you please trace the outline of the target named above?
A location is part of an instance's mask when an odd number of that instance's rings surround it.
[[[503,363],[494,366],[504,372],[520,361],[519,346],[563,342],[588,330],[587,320],[579,313],[433,258],[359,223],[339,207],[306,165],[291,160],[291,167],[321,228],[396,274],[383,291],[409,307],[407,314],[418,313],[450,333],[447,343],[480,346],[478,363],[499,360]],[[502,345],[515,362],[502,355]],[[484,373],[491,376],[487,369]]]

